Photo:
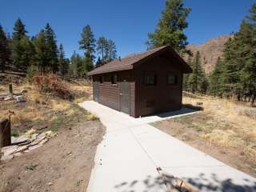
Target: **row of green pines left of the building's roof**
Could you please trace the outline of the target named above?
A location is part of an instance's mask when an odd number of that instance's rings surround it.
[[[56,35],[49,23],[33,37],[27,35],[22,20],[14,24],[13,33],[6,34],[0,25],[0,70],[17,70],[23,73],[53,73],[62,76],[86,78],[88,71],[117,58],[115,43],[111,39],[94,38],[89,25],[82,30],[79,49],[83,56],[76,54],[66,58],[62,44],[58,46]],[[101,57],[95,62],[96,51]]]

